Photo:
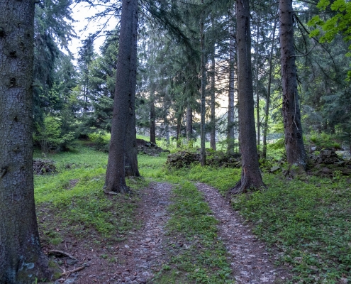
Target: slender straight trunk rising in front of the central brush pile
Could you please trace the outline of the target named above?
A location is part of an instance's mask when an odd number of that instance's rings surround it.
[[[204,6],[204,0],[201,0]],[[204,31],[204,11],[201,12],[201,141],[200,141],[200,163],[202,166],[206,165],[206,146],[205,146],[205,112],[206,112],[206,56],[205,56],[205,31]]]

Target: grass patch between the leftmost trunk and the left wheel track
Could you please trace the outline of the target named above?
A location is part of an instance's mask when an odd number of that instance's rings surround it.
[[[44,244],[60,244],[66,236],[96,241],[119,241],[138,226],[134,212],[138,195],[104,195],[107,154],[91,148],[49,155],[57,173],[35,176],[35,202]],[[143,179],[127,180],[136,192]]]

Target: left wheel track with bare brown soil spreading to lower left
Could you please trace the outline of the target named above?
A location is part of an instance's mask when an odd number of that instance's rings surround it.
[[[128,240],[116,246],[96,246],[94,250],[81,246],[72,254],[80,260],[76,266],[86,268],[57,280],[55,284],[150,283],[167,258],[162,240],[163,227],[169,219],[166,208],[171,189],[166,183],[152,183],[147,187],[138,209],[138,219],[143,219],[141,229],[131,232]],[[106,258],[101,258],[101,255],[106,255]],[[72,269],[70,266],[69,270]]]

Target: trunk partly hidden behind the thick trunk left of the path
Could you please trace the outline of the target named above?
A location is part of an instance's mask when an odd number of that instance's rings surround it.
[[[138,5],[138,4],[137,4]],[[137,42],[138,42],[138,6],[133,13],[133,40],[130,46],[130,96],[128,97],[128,130],[126,144],[126,177],[140,177],[138,169],[138,147],[136,143],[135,129],[135,88],[136,88],[136,69],[137,69]]]

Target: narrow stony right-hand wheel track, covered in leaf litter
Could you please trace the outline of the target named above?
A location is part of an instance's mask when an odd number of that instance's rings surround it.
[[[250,226],[243,224],[243,218],[235,212],[228,201],[213,187],[197,183],[204,192],[218,224],[218,236],[232,256],[230,260],[235,280],[238,283],[281,283],[287,278],[284,268],[273,265],[275,258],[269,258],[264,243],[253,236]]]

